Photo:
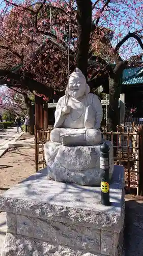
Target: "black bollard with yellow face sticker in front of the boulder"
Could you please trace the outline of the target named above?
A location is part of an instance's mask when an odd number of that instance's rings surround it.
[[[109,150],[110,147],[103,143],[100,146],[100,168],[103,172],[101,178],[101,204],[109,206],[110,196],[109,196]]]

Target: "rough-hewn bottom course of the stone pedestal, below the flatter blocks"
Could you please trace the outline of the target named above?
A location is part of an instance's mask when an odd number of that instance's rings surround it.
[[[109,238],[108,238],[109,239]],[[107,241],[106,241],[107,242]],[[23,237],[7,233],[5,237],[5,249],[2,256],[107,256],[112,254],[96,254],[95,252],[85,252],[58,244],[50,244],[39,239]],[[109,246],[109,245],[108,245]],[[119,255],[118,253],[116,255]]]

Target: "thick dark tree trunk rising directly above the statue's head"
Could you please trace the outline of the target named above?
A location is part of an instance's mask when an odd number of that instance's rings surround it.
[[[87,78],[88,53],[92,28],[91,0],[76,0],[77,3],[77,68]]]

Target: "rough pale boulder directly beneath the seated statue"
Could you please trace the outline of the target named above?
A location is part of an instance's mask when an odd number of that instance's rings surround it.
[[[109,173],[113,173],[113,147],[110,141],[102,140],[110,146]],[[44,146],[48,178],[55,181],[79,185],[100,185],[100,145],[63,146],[61,143],[47,142]]]

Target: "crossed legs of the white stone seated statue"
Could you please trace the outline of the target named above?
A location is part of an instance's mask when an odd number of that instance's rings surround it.
[[[101,132],[97,129],[55,128],[50,133],[50,140],[63,145],[96,145],[101,141]]]

